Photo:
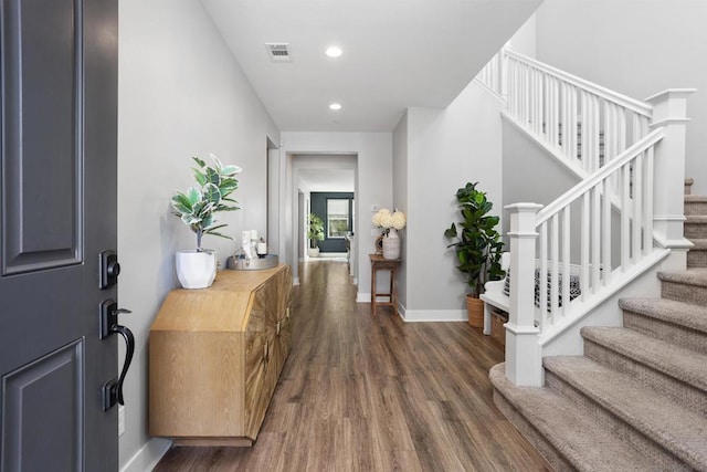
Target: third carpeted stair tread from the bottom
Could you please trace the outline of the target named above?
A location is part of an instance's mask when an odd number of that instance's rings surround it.
[[[707,356],[704,354],[622,327],[584,326],[581,334],[584,339],[707,394]]]

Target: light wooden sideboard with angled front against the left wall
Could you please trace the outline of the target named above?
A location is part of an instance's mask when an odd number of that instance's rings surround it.
[[[171,291],[150,328],[150,436],[251,445],[289,353],[291,312],[285,264]]]

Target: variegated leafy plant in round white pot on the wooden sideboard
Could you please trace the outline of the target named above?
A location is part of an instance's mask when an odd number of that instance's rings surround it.
[[[213,166],[192,157],[197,164],[192,167],[197,186],[186,192],[177,191],[172,196],[173,213],[197,235],[197,248],[177,252],[177,276],[184,289],[210,286],[215,277],[215,251],[203,249],[201,239],[205,234],[233,239],[221,232],[225,224],[219,224],[214,214],[220,211],[238,210],[238,202],[230,198],[239,188],[235,176],[241,171],[238,166],[223,166],[211,154]]]

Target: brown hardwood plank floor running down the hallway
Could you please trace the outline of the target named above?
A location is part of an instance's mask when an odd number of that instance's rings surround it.
[[[492,400],[500,345],[356,303],[344,262],[300,265],[293,346],[252,448],[172,448],[157,471],[546,471]]]

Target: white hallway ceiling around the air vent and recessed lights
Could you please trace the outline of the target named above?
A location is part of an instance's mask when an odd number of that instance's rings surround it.
[[[391,132],[408,107],[447,106],[541,1],[202,0],[283,132]]]

